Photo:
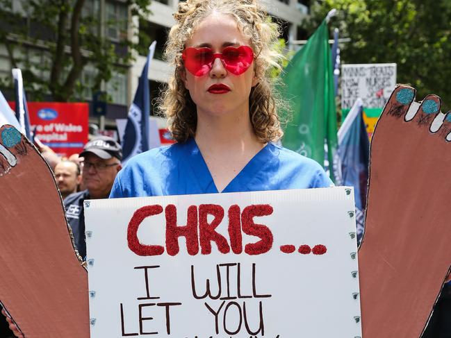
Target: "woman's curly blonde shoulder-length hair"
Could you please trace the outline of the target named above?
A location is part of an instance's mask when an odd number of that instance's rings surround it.
[[[240,31],[251,40],[256,60],[254,65],[257,85],[249,96],[249,117],[259,141],[274,142],[283,132],[275,95],[274,81],[270,71],[281,68],[283,56],[272,47],[279,36],[279,26],[271,21],[258,0],[187,0],[179,3],[174,13],[177,24],[169,33],[165,49],[166,60],[174,67],[174,74],[161,96],[160,109],[167,117],[169,129],[177,142],[194,137],[197,126],[196,105],[181,78],[184,69],[181,53],[186,40],[194,33],[199,23],[213,12],[231,15]]]

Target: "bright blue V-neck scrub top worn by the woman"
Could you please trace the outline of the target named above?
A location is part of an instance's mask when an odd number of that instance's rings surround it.
[[[268,143],[222,192],[330,187],[317,162]],[[117,174],[110,198],[217,193],[194,138],[133,156]]]

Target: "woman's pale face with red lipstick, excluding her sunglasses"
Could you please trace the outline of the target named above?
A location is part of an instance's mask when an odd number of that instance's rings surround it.
[[[249,45],[250,40],[240,32],[233,17],[214,13],[202,20],[185,47],[209,47],[213,53],[222,53],[225,47]],[[249,113],[249,94],[256,85],[254,63],[243,74],[235,75],[224,67],[220,58],[215,58],[206,74],[195,76],[185,69],[182,77],[197,105],[198,119],[205,115],[237,117]]]

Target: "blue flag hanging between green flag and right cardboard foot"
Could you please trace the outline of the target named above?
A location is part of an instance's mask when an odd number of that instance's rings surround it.
[[[354,187],[357,242],[360,243],[365,228],[370,159],[370,141],[363,122],[363,101],[361,99],[356,100],[338,130],[338,154],[341,158],[343,185]]]

